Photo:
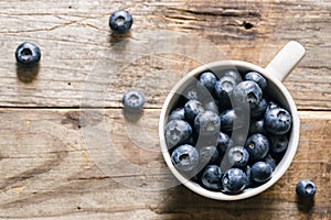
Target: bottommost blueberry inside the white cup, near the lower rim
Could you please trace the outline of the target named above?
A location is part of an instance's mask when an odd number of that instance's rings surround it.
[[[222,186],[226,193],[238,194],[245,189],[247,180],[247,176],[242,169],[229,168],[222,177]]]

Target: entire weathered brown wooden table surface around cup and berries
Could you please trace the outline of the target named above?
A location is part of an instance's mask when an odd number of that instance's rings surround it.
[[[108,28],[118,9],[135,20],[125,36]],[[330,23],[330,0],[0,1],[0,218],[331,219]],[[284,81],[301,133],[282,178],[241,201],[173,182],[158,141],[172,86],[204,62],[266,66],[291,40],[307,55]],[[24,41],[42,50],[29,73],[14,61]],[[147,99],[136,123],[121,111],[131,88]],[[313,202],[297,199],[302,178]]]

